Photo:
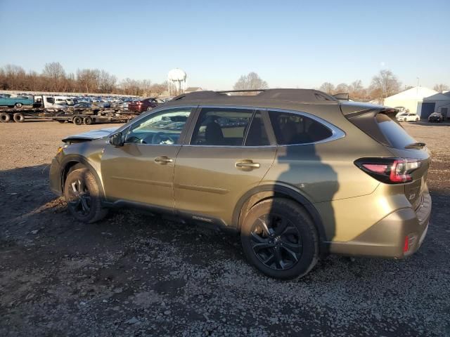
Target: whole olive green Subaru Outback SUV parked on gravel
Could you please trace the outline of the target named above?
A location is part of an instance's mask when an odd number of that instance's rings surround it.
[[[395,113],[307,89],[188,93],[65,138],[51,189],[87,223],[139,206],[236,230],[280,279],[328,253],[404,258],[428,229],[430,153]]]

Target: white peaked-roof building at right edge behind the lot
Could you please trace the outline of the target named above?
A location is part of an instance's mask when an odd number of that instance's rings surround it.
[[[441,112],[444,118],[450,117],[450,95],[423,86],[416,86],[387,97],[384,105],[405,107],[409,112],[418,114],[420,119],[427,119],[432,112]]]

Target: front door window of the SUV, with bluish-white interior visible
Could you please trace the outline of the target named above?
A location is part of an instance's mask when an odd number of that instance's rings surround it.
[[[192,110],[192,108],[177,108],[150,114],[131,126],[125,143],[179,144],[181,132]]]

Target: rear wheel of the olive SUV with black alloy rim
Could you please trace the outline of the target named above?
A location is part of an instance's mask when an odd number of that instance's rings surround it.
[[[307,275],[319,260],[314,222],[302,206],[288,199],[269,199],[253,206],[243,220],[240,240],[249,262],[276,279]]]

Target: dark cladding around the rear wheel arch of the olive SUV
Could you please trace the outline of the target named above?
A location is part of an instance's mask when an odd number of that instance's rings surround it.
[[[248,191],[240,197],[235,206],[233,211],[233,225],[236,225],[237,229],[240,230],[244,215],[252,208],[252,206],[255,206],[255,204],[266,199],[273,198],[290,199],[302,206],[307,213],[309,213],[309,216],[311,216],[311,219],[314,222],[317,233],[319,234],[319,242],[321,242],[321,251],[327,250],[325,244],[327,241],[325,227],[323,226],[323,221],[319,212],[307,197],[304,197],[300,192],[293,190],[290,187],[281,185],[262,185]]]

